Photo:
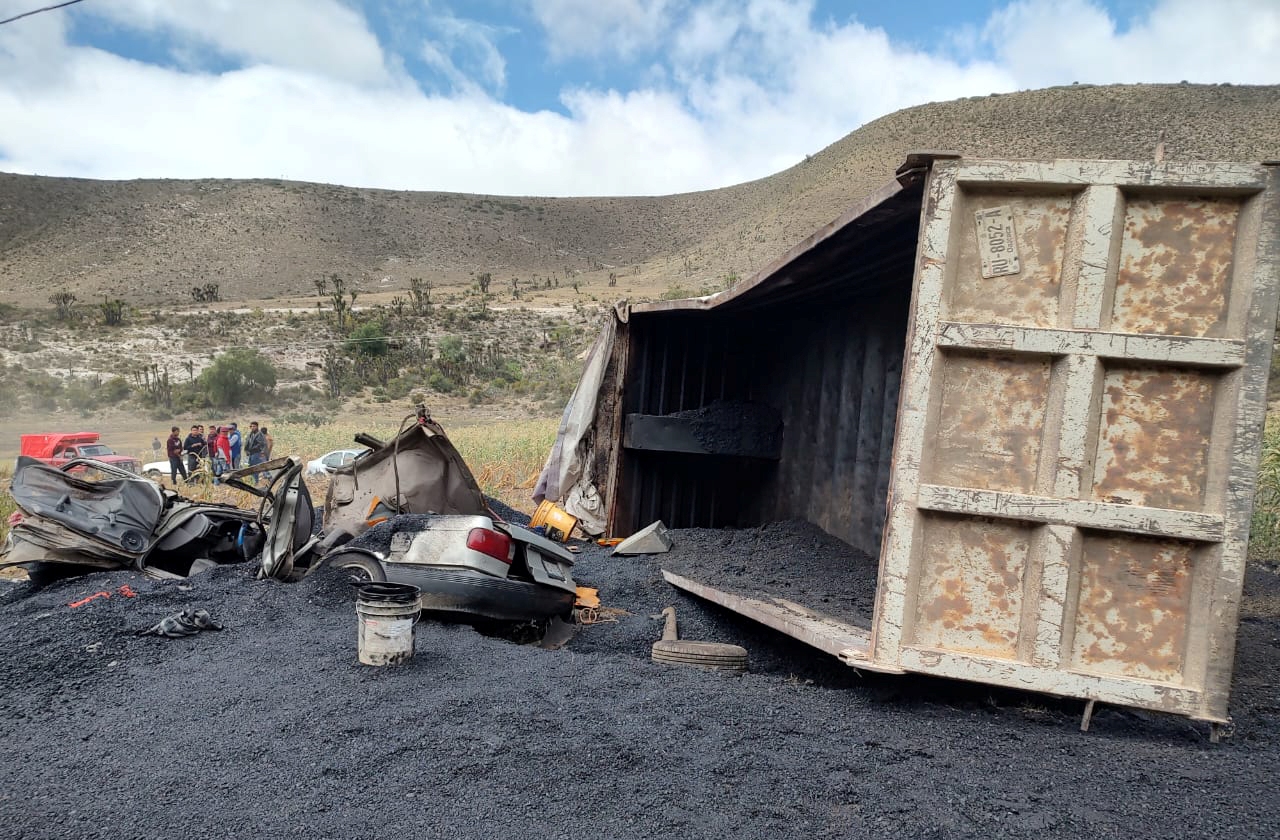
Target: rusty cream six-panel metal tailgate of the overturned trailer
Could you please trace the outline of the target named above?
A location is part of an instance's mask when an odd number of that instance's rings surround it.
[[[1226,720],[1276,172],[938,161],[872,658]]]

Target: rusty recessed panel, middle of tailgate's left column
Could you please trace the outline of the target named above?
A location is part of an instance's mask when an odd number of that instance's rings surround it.
[[[1029,493],[1036,487],[1050,361],[948,353],[927,480]]]

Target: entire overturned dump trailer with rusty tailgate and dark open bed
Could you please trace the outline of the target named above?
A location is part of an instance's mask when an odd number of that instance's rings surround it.
[[[878,554],[863,621],[668,575],[854,667],[1224,722],[1277,177],[911,155],[732,289],[620,306],[547,496]]]

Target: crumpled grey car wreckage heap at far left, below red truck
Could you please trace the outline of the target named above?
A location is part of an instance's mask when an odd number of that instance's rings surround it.
[[[255,511],[187,499],[88,458],[50,466],[19,456],[10,493],[20,517],[0,567],[23,565],[33,580],[114,569],[184,578],[251,560],[265,537]]]

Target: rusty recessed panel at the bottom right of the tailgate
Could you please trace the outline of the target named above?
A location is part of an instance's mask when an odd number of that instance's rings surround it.
[[[1194,545],[1114,535],[1084,540],[1073,666],[1180,682]]]

